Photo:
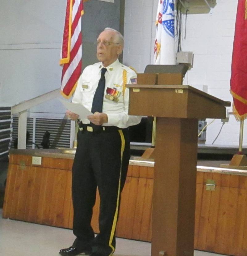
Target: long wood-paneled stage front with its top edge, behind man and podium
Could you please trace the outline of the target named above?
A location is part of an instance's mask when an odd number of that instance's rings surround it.
[[[41,165],[31,164],[33,155],[42,156]],[[3,218],[72,228],[72,164],[73,155],[59,150],[10,151]],[[117,237],[151,241],[153,165],[130,160]],[[200,161],[197,166],[195,249],[247,255],[247,172],[217,165]],[[216,181],[215,191],[206,190],[208,179]],[[92,218],[95,233],[98,212],[97,194]]]

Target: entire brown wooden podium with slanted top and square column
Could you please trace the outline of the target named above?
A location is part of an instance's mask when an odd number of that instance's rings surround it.
[[[231,103],[188,85],[126,87],[130,115],[157,117],[151,255],[194,255],[198,119]]]

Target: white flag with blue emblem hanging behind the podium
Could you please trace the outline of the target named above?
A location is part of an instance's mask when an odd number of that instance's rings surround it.
[[[176,64],[174,0],[158,0],[153,64]]]

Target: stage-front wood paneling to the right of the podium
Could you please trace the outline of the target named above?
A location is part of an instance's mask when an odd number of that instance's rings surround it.
[[[206,190],[207,179],[216,190]],[[197,173],[195,249],[247,255],[247,177]]]

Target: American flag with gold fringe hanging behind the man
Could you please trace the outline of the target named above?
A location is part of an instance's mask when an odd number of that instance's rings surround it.
[[[61,94],[70,98],[82,71],[83,0],[67,0],[60,65],[63,65]]]

